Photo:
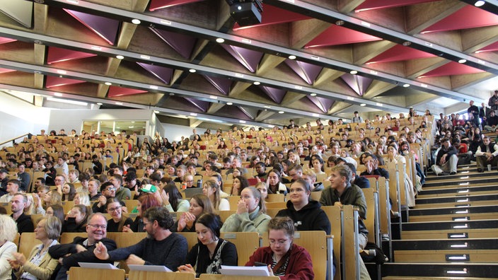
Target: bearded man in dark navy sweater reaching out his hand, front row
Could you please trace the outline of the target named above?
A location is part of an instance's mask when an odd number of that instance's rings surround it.
[[[102,260],[126,259],[127,264],[163,265],[176,271],[187,255],[187,240],[178,233],[172,233],[172,226],[173,218],[168,209],[152,207],[144,213],[144,229],[150,238],[110,252],[99,242],[93,252]]]

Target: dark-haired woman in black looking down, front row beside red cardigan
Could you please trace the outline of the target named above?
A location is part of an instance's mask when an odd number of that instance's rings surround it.
[[[220,274],[221,265],[236,266],[237,249],[233,243],[219,237],[221,221],[215,214],[202,214],[195,221],[195,232],[199,242],[192,247],[179,272]],[[194,269],[195,267],[195,269]]]

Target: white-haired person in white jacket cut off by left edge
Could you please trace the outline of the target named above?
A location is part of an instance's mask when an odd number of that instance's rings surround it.
[[[0,215],[0,280],[11,280],[12,269],[8,259],[13,259],[17,246],[12,241],[17,235],[16,221],[7,215]]]

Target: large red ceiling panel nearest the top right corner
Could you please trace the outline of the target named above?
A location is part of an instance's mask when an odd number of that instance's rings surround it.
[[[451,14],[451,16],[447,16],[424,29],[422,33],[478,28],[491,25],[498,25],[498,15],[468,5]]]

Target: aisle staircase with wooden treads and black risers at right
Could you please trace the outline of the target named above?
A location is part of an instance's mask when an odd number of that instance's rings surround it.
[[[415,208],[402,216],[382,279],[498,279],[496,169],[477,173],[465,165],[456,175],[429,173]],[[395,221],[392,228],[399,226]]]

